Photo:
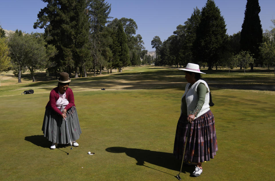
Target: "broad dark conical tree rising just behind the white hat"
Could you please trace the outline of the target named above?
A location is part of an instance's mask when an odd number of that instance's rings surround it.
[[[196,61],[207,62],[208,69],[219,60],[219,52],[226,40],[226,25],[220,10],[213,0],[207,0],[201,10],[201,21],[197,29],[195,46]]]

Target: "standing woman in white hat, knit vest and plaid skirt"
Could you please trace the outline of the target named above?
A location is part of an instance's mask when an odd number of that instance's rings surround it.
[[[187,164],[195,164],[192,176],[197,177],[203,171],[202,162],[214,158],[218,150],[215,120],[209,108],[211,94],[207,83],[201,79],[201,74],[205,73],[200,71],[198,64],[188,63],[180,70],[185,70],[188,84],[182,96],[173,154]]]

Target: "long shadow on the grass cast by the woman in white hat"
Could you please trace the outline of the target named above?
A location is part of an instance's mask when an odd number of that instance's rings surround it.
[[[127,156],[135,158],[137,160],[137,165],[146,166],[144,162],[154,164],[160,167],[168,168],[170,170],[178,171],[180,170],[181,161],[175,158],[172,153],[166,152],[156,152],[146,149],[137,148],[125,148],[125,147],[109,147],[105,149],[107,152],[111,153],[125,153]],[[148,166],[146,166],[148,167]],[[149,167],[151,168],[151,167]],[[154,169],[154,168],[152,168]],[[154,169],[156,170],[156,169]],[[158,170],[160,171],[160,170]],[[194,171],[194,166],[183,164],[182,173],[190,173]],[[162,171],[160,171],[162,172]],[[166,172],[164,172],[166,173]],[[168,174],[168,173],[166,173]]]

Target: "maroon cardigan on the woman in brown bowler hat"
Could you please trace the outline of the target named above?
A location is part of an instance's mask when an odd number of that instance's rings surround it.
[[[52,89],[50,92],[50,101],[46,105],[46,107],[50,106],[52,109],[57,112],[58,114],[62,115],[62,112],[56,107],[55,103],[59,99],[59,94],[58,94],[58,87]],[[66,99],[69,101],[69,104],[64,108],[66,110],[70,109],[74,105],[74,94],[72,93],[72,89],[69,87],[66,90]]]

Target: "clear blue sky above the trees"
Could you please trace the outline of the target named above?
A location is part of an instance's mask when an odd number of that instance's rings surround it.
[[[207,0],[107,0],[111,4],[110,16],[132,18],[137,23],[137,33],[142,36],[146,50],[153,51],[151,41],[159,36],[162,41],[189,18],[195,7],[202,9]],[[216,0],[227,25],[227,33],[241,31],[246,0]],[[275,19],[275,1],[259,0],[262,29],[270,30],[271,19]],[[21,29],[23,32],[44,32],[33,29],[37,14],[46,3],[41,0],[1,0],[0,25],[3,29]]]

